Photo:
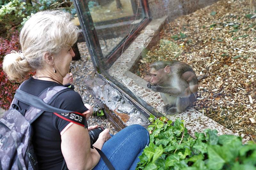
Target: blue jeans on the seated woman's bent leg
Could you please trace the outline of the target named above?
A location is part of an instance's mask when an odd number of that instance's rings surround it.
[[[135,169],[138,158],[149,144],[148,131],[139,124],[125,127],[104,143],[102,152],[108,157],[116,170]],[[105,162],[100,158],[94,170],[107,170]]]

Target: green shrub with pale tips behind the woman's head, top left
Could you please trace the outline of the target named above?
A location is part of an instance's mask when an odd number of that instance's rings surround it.
[[[8,2],[8,3],[7,3]],[[76,10],[72,0],[0,0],[0,35],[6,35],[11,28],[17,30],[28,20],[29,16],[38,11],[63,10],[71,13],[74,17]]]

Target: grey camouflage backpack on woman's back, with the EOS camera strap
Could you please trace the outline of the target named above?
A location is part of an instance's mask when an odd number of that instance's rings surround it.
[[[0,118],[0,170],[38,169],[32,145],[33,128],[31,124],[44,111],[52,112],[60,118],[87,128],[85,116],[81,113],[49,105],[60,93],[70,90],[68,87],[49,87],[39,97],[21,91],[20,87],[16,90],[10,109]],[[19,111],[18,101],[30,105],[26,113]]]

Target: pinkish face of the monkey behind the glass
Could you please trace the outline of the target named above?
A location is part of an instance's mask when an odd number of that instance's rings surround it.
[[[167,73],[164,72],[164,69],[155,70],[154,68],[150,69],[150,74],[152,75],[150,79],[151,84],[162,84],[167,79]]]

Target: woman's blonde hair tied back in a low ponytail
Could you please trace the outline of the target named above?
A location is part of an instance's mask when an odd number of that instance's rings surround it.
[[[78,31],[67,12],[42,11],[32,15],[20,32],[22,53],[12,51],[4,57],[4,72],[10,80],[23,81],[30,71],[43,68],[45,52],[58,54],[62,48],[73,46]]]

